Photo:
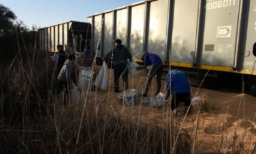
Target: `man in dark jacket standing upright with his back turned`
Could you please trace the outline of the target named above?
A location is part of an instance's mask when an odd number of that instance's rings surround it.
[[[113,57],[112,57],[113,55]],[[122,45],[121,39],[116,39],[115,41],[115,47],[104,57],[102,60],[108,61],[110,57],[113,58],[113,64],[114,64],[114,90],[115,92],[119,91],[119,78],[122,75],[123,78],[123,88],[125,90],[128,89],[128,59],[129,61],[132,60],[132,54],[130,50]]]

